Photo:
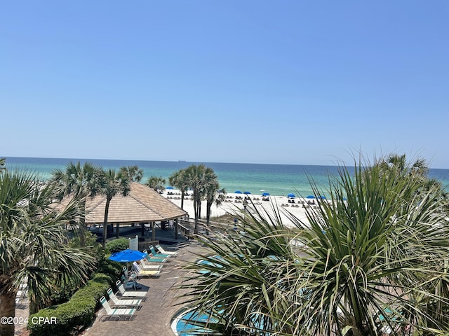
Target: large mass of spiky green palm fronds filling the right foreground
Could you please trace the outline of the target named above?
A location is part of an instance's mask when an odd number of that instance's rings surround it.
[[[245,235],[199,237],[210,263],[180,288],[214,318],[201,335],[447,335],[448,200],[426,169],[388,159],[341,167],[293,230],[252,207],[236,214]]]

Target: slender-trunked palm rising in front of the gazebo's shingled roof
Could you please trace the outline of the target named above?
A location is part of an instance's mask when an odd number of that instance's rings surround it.
[[[103,188],[102,194],[106,195],[106,205],[105,205],[105,222],[103,223],[103,248],[106,248],[106,238],[107,238],[107,216],[109,214],[109,204],[111,203],[112,197],[115,195],[127,196],[130,191],[128,174],[119,170],[116,172],[115,169],[107,169],[103,176]],[[116,238],[119,236],[119,223],[116,223]]]

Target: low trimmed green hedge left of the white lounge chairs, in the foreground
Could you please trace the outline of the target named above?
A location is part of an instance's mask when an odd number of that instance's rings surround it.
[[[100,306],[100,297],[106,294],[113,283],[111,276],[95,274],[68,302],[41,309],[29,316],[29,335],[74,335],[77,330],[91,325],[95,319],[95,310]]]

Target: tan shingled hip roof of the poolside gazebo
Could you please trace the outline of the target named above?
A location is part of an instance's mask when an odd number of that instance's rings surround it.
[[[106,197],[98,195],[86,200],[86,224],[105,221]],[[133,182],[128,196],[116,195],[109,204],[108,223],[146,223],[167,221],[185,216],[173,202],[159,195],[148,186]]]

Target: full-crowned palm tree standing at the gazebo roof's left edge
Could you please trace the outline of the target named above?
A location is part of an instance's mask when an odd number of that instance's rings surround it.
[[[84,246],[84,231],[86,230],[86,197],[95,197],[100,193],[102,188],[100,184],[101,171],[102,169],[89,162],[85,162],[82,166],[80,162],[76,165],[69,162],[64,171],[55,169],[50,180],[57,191],[58,199],[62,200],[63,197],[69,196],[79,200],[82,214],[78,225],[81,246]]]

